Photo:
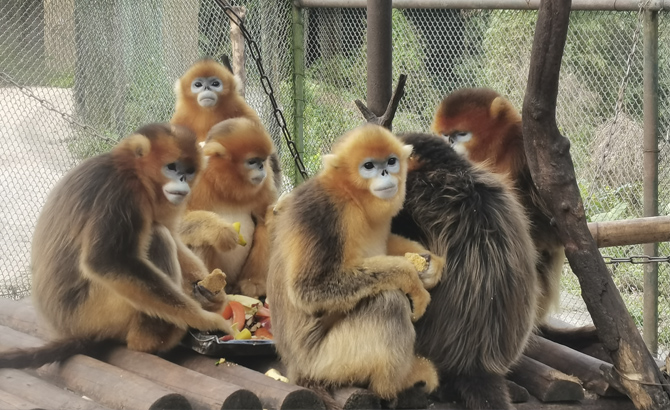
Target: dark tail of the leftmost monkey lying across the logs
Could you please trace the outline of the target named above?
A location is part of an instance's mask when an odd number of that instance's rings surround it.
[[[111,346],[111,340],[63,339],[30,349],[13,349],[0,353],[0,368],[38,368],[48,363],[62,362],[76,354],[91,355]]]

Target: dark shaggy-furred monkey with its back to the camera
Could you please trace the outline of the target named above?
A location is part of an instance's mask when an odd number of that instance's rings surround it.
[[[505,181],[443,138],[401,135],[414,147],[407,194],[392,231],[445,256],[442,281],[415,324],[417,353],[469,409],[511,409],[505,375],[535,323],[536,253],[528,220]]]

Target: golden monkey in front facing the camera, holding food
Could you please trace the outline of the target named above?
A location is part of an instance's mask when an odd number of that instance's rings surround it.
[[[417,272],[402,255],[428,252],[391,234],[411,150],[382,127],[354,129],[271,217],[276,347],[289,380],[331,406],[328,392],[338,386],[365,386],[390,401],[415,385],[437,386],[432,363],[414,353],[412,321],[425,311],[425,287],[439,281],[444,259],[431,254]]]

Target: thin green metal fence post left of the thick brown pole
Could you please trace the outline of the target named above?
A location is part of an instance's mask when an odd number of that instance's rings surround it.
[[[293,140],[298,154],[305,152],[303,137],[303,114],[305,111],[305,25],[302,9],[293,5]],[[294,164],[293,182],[303,181],[300,170]]]

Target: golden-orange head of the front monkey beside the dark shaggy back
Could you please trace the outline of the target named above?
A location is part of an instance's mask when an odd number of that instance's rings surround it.
[[[320,178],[333,192],[348,196],[370,211],[388,209],[395,215],[405,198],[407,160],[411,145],[390,131],[366,124],[342,137],[323,156]]]

